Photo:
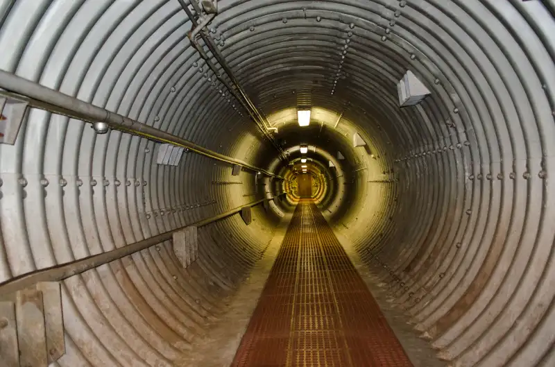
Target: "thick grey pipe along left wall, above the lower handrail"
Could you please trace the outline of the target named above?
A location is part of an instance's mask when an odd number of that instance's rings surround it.
[[[115,130],[146,137],[148,139],[155,139],[176,146],[182,146],[183,148],[189,149],[189,151],[204,155],[205,157],[210,157],[214,160],[219,160],[228,164],[237,164],[250,171],[262,172],[266,176],[282,178],[265,169],[244,162],[243,160],[237,160],[236,158],[216,153],[208,148],[189,142],[187,139],[171,135],[153,126],[148,126],[146,123],[141,123],[137,120],[122,116],[121,114],[105,110],[104,108],[81,101],[80,99],[68,96],[67,94],[45,87],[44,85],[40,85],[15,74],[8,73],[7,71],[0,70],[0,88],[26,97],[31,107],[80,119],[93,123],[93,125],[100,124],[100,126],[94,126],[95,130],[99,130],[99,133],[105,132],[106,126],[103,124],[107,124],[110,128]],[[1,94],[10,95],[6,92],[1,92]]]

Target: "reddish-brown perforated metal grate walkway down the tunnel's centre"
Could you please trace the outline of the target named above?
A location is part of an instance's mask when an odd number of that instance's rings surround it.
[[[412,366],[310,200],[293,214],[232,366]]]

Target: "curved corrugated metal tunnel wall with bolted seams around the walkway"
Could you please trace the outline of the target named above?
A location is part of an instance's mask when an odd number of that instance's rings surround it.
[[[53,366],[181,366],[293,211],[307,157],[334,231],[442,359],[555,366],[554,14],[0,0],[0,316],[60,281]],[[430,95],[401,108],[407,71]],[[191,225],[183,266],[171,231]]]

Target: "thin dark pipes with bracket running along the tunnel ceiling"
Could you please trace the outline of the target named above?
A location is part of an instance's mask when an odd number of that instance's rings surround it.
[[[198,20],[195,19],[191,10],[189,10],[189,7],[187,6],[187,3],[185,3],[185,0],[178,0],[178,1],[181,7],[183,8],[183,10],[185,11],[185,13],[187,13],[187,17],[189,17],[189,20],[191,20],[191,24],[193,25],[193,28],[187,34],[187,36],[189,37],[189,40],[191,41],[191,45],[198,51],[198,53],[200,54],[200,57],[202,57],[207,62],[207,65],[210,67],[210,69],[212,69],[212,71],[216,75],[216,78],[218,78],[225,85],[225,87],[230,91],[232,96],[234,96],[235,99],[237,99],[237,101],[239,101],[239,103],[243,105],[243,107],[249,114],[250,118],[253,119],[253,121],[255,121],[259,129],[262,131],[262,134],[264,135],[264,137],[266,137],[266,139],[268,139],[268,141],[278,151],[280,159],[284,160],[285,157],[284,157],[283,149],[279,146],[277,142],[275,142],[275,139],[268,131],[268,128],[270,126],[269,126],[269,123],[266,122],[266,117],[264,117],[258,111],[253,101],[250,100],[250,98],[245,92],[245,89],[241,86],[241,84],[239,83],[239,80],[237,80],[237,78],[233,74],[232,69],[225,61],[225,58],[223,57],[219,49],[216,47],[214,40],[208,37],[204,32],[203,28],[206,28],[206,26],[212,21],[212,19],[214,19],[214,17],[210,17],[213,14],[207,14],[205,15],[205,17],[201,17],[202,10],[200,9],[200,6],[198,6],[198,3],[196,3],[196,1],[189,1],[191,6],[194,8],[196,14],[198,15],[198,18],[201,19],[199,23]],[[212,62],[210,61],[210,57],[207,56],[207,54],[203,50],[203,47],[200,46],[196,41],[197,35],[200,35],[200,37],[203,39],[207,48],[210,50],[214,58],[218,61],[219,65],[222,67],[223,71],[228,76],[228,78],[230,78],[232,85],[229,85],[227,82],[225,82],[225,80],[223,80],[223,78],[221,77],[221,74],[219,74],[214,64],[212,64]]]

